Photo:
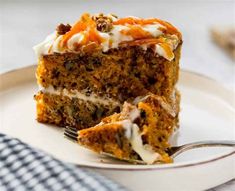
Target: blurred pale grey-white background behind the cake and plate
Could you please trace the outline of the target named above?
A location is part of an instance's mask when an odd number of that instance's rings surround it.
[[[173,23],[183,34],[181,68],[235,89],[235,61],[211,38],[212,27],[235,25],[234,0],[2,0],[0,73],[35,64],[32,47],[59,23],[74,23],[83,12],[159,17]]]

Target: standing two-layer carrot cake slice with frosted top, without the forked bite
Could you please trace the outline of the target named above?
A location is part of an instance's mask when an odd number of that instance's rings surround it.
[[[157,18],[83,14],[34,47],[37,120],[84,129],[148,93],[171,102],[182,38]]]

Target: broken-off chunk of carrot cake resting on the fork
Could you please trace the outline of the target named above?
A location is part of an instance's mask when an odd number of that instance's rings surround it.
[[[156,95],[140,98],[135,105],[125,102],[120,113],[78,131],[78,142],[122,160],[141,160],[147,164],[172,162],[166,150],[178,127],[179,94],[176,92],[175,96],[172,104]]]

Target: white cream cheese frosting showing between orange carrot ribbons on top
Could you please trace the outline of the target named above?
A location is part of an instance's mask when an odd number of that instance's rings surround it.
[[[117,18],[110,16],[112,20],[117,20]],[[137,17],[130,17],[130,18],[136,18]],[[146,32],[147,34],[150,34],[152,38],[158,38],[163,35],[163,29],[166,30],[166,27],[163,26],[160,23],[152,23],[152,24],[145,24],[145,25],[139,25],[135,24],[135,27],[138,27],[141,29],[141,31]],[[136,40],[131,36],[130,34],[125,34],[123,31],[129,31],[131,30],[133,25],[112,25],[112,29],[108,32],[101,32],[96,30],[95,32],[97,35],[102,39],[102,42],[100,43],[100,47],[103,52],[107,52],[110,49],[118,48],[120,43],[122,42],[130,42]],[[87,27],[85,30],[79,31],[74,33],[68,41],[66,41],[65,46],[63,46],[62,41],[64,38],[64,35],[60,35],[56,32],[53,32],[50,34],[42,43],[34,46],[34,51],[36,55],[40,58],[42,55],[46,54],[53,54],[53,53],[66,53],[66,52],[78,52],[77,45],[82,44],[84,39],[89,34],[90,28]],[[174,49],[178,46],[179,38],[175,34],[168,34],[168,37],[166,37],[167,41],[164,42],[169,47],[168,50],[166,50],[163,46],[161,46],[161,43],[155,44],[154,51],[156,55],[162,56],[165,59],[171,61],[174,59],[174,54],[169,54],[170,52],[173,52]],[[147,44],[141,44],[140,47],[143,48],[143,50],[147,50],[148,45]]]

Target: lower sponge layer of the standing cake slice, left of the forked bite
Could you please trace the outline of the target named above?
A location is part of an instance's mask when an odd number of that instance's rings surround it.
[[[79,95],[79,96],[78,96]],[[37,120],[61,127],[87,128],[100,122],[103,117],[120,111],[121,105],[112,100],[86,96],[74,92],[40,91],[37,101]]]

